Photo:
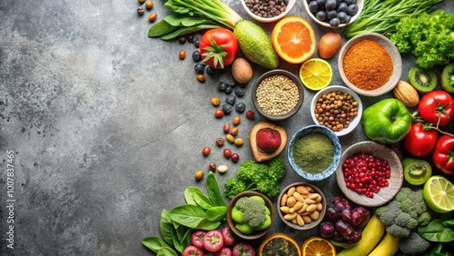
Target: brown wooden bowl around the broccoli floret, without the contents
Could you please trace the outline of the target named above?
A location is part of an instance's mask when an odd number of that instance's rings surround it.
[[[242,233],[242,231],[239,231],[237,228],[235,228],[236,223],[233,222],[233,220],[232,220],[232,208],[235,205],[235,203],[243,196],[252,196],[252,195],[260,196],[260,197],[262,197],[263,200],[265,200],[265,205],[266,205],[266,207],[268,207],[268,209],[270,210],[270,213],[271,213],[270,214],[271,225],[263,231],[257,231],[252,234],[244,234],[244,233]],[[257,239],[262,238],[264,235],[266,235],[268,233],[268,231],[271,230],[273,223],[274,223],[274,208],[272,206],[272,202],[268,197],[266,197],[264,194],[262,194],[260,192],[241,192],[232,198],[232,201],[229,203],[229,206],[227,207],[227,224],[229,225],[232,232],[243,240],[252,241],[252,240],[257,240]]]

